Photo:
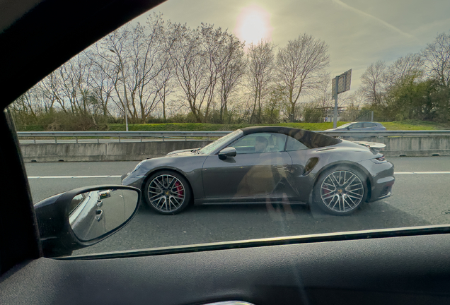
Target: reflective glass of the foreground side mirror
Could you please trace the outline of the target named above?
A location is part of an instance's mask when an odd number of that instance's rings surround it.
[[[96,239],[126,222],[138,198],[137,191],[127,189],[81,193],[69,205],[69,224],[81,241]]]

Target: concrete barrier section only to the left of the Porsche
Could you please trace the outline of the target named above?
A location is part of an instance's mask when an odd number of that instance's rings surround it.
[[[140,161],[161,157],[173,150],[200,148],[211,141],[167,141],[128,143],[21,144],[25,162]]]

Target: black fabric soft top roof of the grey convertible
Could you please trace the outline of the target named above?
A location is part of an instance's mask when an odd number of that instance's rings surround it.
[[[342,140],[340,139],[325,136],[321,133],[282,126],[246,127],[241,128],[241,131],[243,131],[244,135],[247,135],[249,133],[283,133],[287,136],[295,138],[296,140],[299,140],[301,143],[306,145],[307,148],[321,148],[342,142]]]

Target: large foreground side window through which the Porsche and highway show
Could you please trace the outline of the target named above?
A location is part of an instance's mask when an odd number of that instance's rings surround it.
[[[448,225],[449,16],[439,0],[164,1],[10,104],[33,203],[142,191],[74,256]]]

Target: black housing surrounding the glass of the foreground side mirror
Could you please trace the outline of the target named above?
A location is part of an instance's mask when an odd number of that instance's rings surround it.
[[[103,234],[97,234],[88,240],[83,240],[77,236],[72,229],[69,221],[69,209],[74,197],[83,193],[95,192],[100,194],[103,198],[110,198],[112,191],[132,191],[136,192],[137,203],[134,210],[131,212],[129,218],[125,221],[117,222],[117,226],[109,231],[104,231]],[[100,199],[99,199],[100,200]],[[104,201],[105,199],[103,199]],[[42,251],[45,257],[69,256],[74,250],[92,246],[99,241],[110,237],[115,232],[125,227],[136,215],[141,202],[141,191],[131,186],[86,186],[79,189],[60,193],[50,198],[46,198],[34,205],[37,224],[39,226],[40,241],[42,244]],[[96,201],[98,203],[98,201]],[[72,203],[73,204],[73,203]],[[100,210],[100,205],[99,209]],[[104,209],[105,205],[103,205]],[[96,210],[96,213],[98,212]],[[97,213],[98,214],[98,213]],[[98,216],[98,215],[97,215]],[[100,217],[97,217],[100,218]],[[98,221],[98,219],[94,220]]]

